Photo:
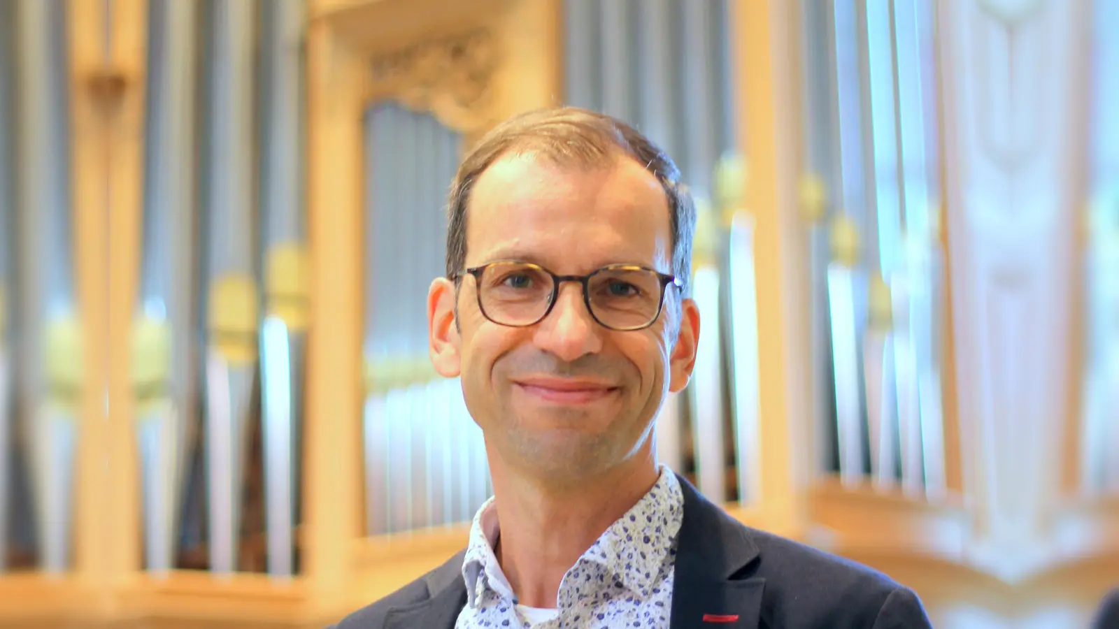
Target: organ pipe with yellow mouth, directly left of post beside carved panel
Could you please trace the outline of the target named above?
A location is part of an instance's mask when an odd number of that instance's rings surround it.
[[[263,115],[262,217],[267,312],[261,330],[261,410],[265,534],[269,573],[294,572],[294,524],[303,423],[307,317],[307,245],[303,215],[302,44],[303,0],[262,7],[267,43]]]

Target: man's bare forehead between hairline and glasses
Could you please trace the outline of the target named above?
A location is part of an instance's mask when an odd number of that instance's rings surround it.
[[[595,166],[502,157],[474,184],[467,224],[468,266],[519,259],[556,272],[613,263],[667,271],[671,262],[664,188],[626,156]]]

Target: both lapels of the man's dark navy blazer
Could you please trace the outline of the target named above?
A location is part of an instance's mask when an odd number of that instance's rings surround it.
[[[756,629],[765,580],[750,578],[758,546],[749,529],[677,475],[684,522],[676,551],[670,629]],[[389,610],[385,629],[454,629],[467,586],[460,552],[426,579],[430,598]]]

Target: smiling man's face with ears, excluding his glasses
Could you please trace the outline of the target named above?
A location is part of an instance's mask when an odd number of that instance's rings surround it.
[[[517,260],[560,275],[621,263],[670,273],[671,246],[660,184],[624,157],[580,168],[510,156],[471,194],[467,267]],[[443,375],[461,376],[490,457],[505,467],[576,480],[650,457],[657,410],[667,391],[687,384],[698,335],[690,300],[676,307],[669,287],[651,327],[613,331],[591,317],[582,290],[562,283],[544,320],[514,328],[482,314],[473,278],[459,291],[446,280],[432,284],[433,360]]]

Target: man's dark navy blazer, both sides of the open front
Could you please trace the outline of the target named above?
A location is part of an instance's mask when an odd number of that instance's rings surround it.
[[[918,597],[884,574],[743,526],[684,478],[680,489],[671,629],[932,627]],[[467,604],[464,554],[333,627],[454,629]],[[705,614],[737,619],[716,623]]]

